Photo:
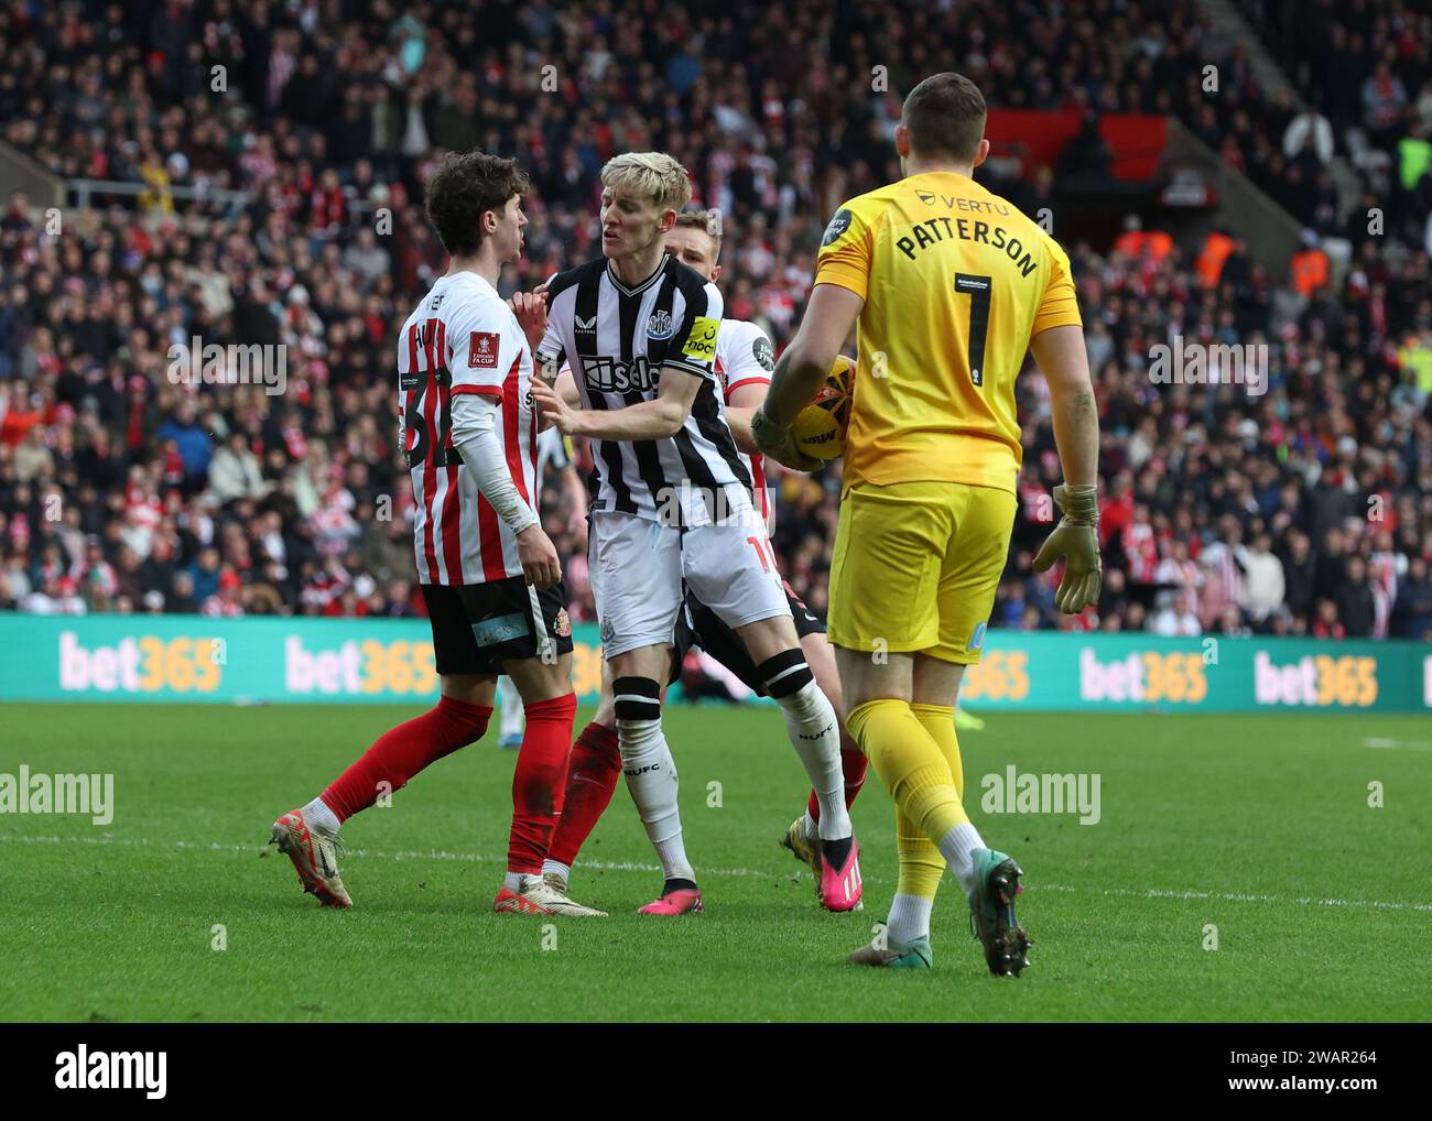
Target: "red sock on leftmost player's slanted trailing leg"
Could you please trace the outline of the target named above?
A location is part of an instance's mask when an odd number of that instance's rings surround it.
[[[339,822],[347,822],[358,810],[368,809],[379,795],[401,790],[428,763],[483,739],[491,714],[493,710],[485,706],[440,697],[431,712],[379,736],[357,763],[324,790],[324,805]],[[387,783],[387,787],[379,783]]]

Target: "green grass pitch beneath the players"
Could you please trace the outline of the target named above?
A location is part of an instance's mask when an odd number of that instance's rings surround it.
[[[843,964],[895,888],[891,802],[871,775],[855,807],[865,912],[821,912],[778,848],[806,786],[769,709],[667,714],[705,915],[634,913],[659,876],[624,790],[573,879],[610,919],[494,915],[514,762],[494,733],[345,826],[357,906],[324,911],[266,849],[269,823],[414,712],[0,706],[0,772],[110,772],[116,802],[107,826],[0,816],[0,1018],[1432,1015],[1432,737],[1416,717],[990,713],[961,737],[967,803],[1022,863],[1035,939],[1024,976],[997,979],[948,875],[931,972]],[[981,776],[1011,763],[1098,773],[1103,819],[982,812]]]

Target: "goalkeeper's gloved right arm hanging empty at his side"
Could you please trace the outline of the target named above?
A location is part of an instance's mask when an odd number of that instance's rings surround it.
[[[1054,442],[1064,470],[1064,484],[1054,488],[1063,517],[1034,558],[1034,568],[1044,573],[1064,558],[1064,578],[1054,601],[1065,614],[1078,614],[1098,603],[1104,578],[1098,557],[1098,409],[1084,328],[1051,326],[1030,339],[1030,351],[1050,384]]]

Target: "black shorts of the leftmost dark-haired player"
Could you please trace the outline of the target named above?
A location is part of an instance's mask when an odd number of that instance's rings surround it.
[[[438,673],[497,676],[503,663],[571,653],[561,581],[537,590],[520,576],[487,584],[422,584]],[[550,646],[548,646],[550,643]]]

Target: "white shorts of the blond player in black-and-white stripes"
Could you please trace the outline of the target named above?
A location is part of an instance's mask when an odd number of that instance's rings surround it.
[[[732,629],[790,614],[759,517],[683,530],[636,514],[596,511],[587,563],[606,659],[643,646],[670,646],[683,581]]]

